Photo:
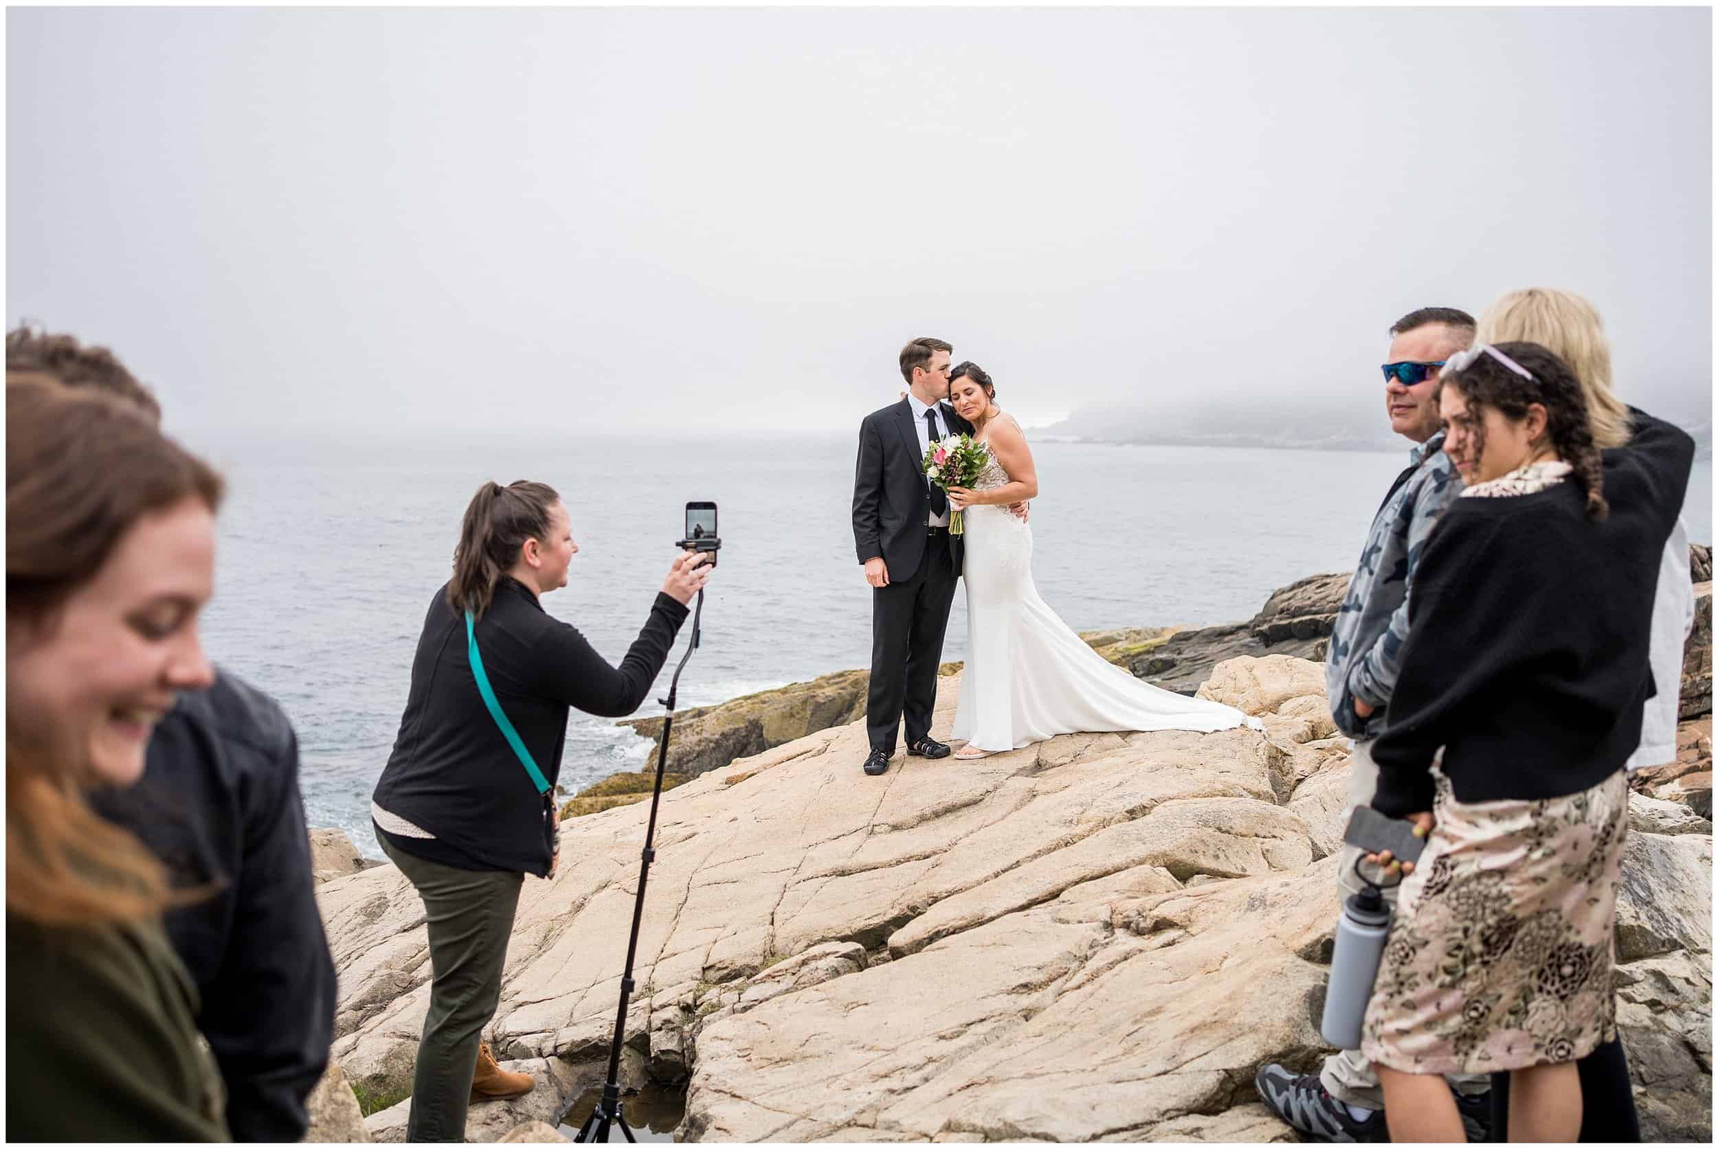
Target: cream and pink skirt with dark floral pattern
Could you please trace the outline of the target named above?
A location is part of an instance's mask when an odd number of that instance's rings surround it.
[[[1459,802],[1402,881],[1361,1051],[1405,1073],[1495,1073],[1617,1037],[1617,888],[1629,783],[1539,802]]]

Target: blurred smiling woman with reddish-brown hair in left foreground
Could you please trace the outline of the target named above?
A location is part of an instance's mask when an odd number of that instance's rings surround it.
[[[208,687],[222,481],[137,410],[7,374],[7,1137],[227,1140],[161,866],[84,802]]]

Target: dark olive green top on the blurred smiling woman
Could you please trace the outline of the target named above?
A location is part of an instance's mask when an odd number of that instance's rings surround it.
[[[196,996],[158,922],[7,914],[7,1140],[227,1140]]]

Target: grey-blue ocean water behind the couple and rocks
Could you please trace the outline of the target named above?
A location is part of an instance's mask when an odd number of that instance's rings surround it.
[[[871,660],[850,436],[186,441],[230,484],[204,644],[290,714],[309,823],[345,828],[373,857],[369,793],[393,747],[417,632],[486,479],[539,479],[562,493],[581,550],[569,586],[543,605],[610,661],[637,635],[677,555],[684,503],[720,505],[723,551],[680,706]],[[1247,618],[1287,582],[1352,568],[1405,460],[1050,441],[1034,453],[1034,575],[1077,630]],[[1696,464],[1685,519],[1692,539],[1711,541],[1709,462]],[[684,634],[639,714],[661,713],[655,699]],[[943,658],[964,656],[957,593]],[[641,769],[649,747],[574,713],[560,781],[572,792]]]

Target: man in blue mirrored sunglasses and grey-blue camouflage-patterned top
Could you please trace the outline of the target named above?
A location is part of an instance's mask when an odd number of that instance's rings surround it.
[[[1407,469],[1385,495],[1349,582],[1325,656],[1325,692],[1337,726],[1354,739],[1349,800],[1343,812],[1366,806],[1378,790],[1371,742],[1385,730],[1395,690],[1402,644],[1407,641],[1407,586],[1438,515],[1462,491],[1462,479],[1443,453],[1438,416],[1438,371],[1474,342],[1474,318],[1455,307],[1421,307],[1390,328],[1385,373],[1385,412],[1390,429],[1414,443]],[[1345,847],[1338,866],[1342,897],[1356,893],[1354,859]],[[1393,895],[1393,891],[1392,891]],[[1490,1097],[1484,1077],[1452,1079],[1462,1123],[1472,1140],[1484,1140]],[[1259,1096],[1309,1140],[1390,1140],[1378,1073],[1359,1049],[1325,1058],[1319,1073],[1294,1073],[1264,1065],[1256,1077]]]

